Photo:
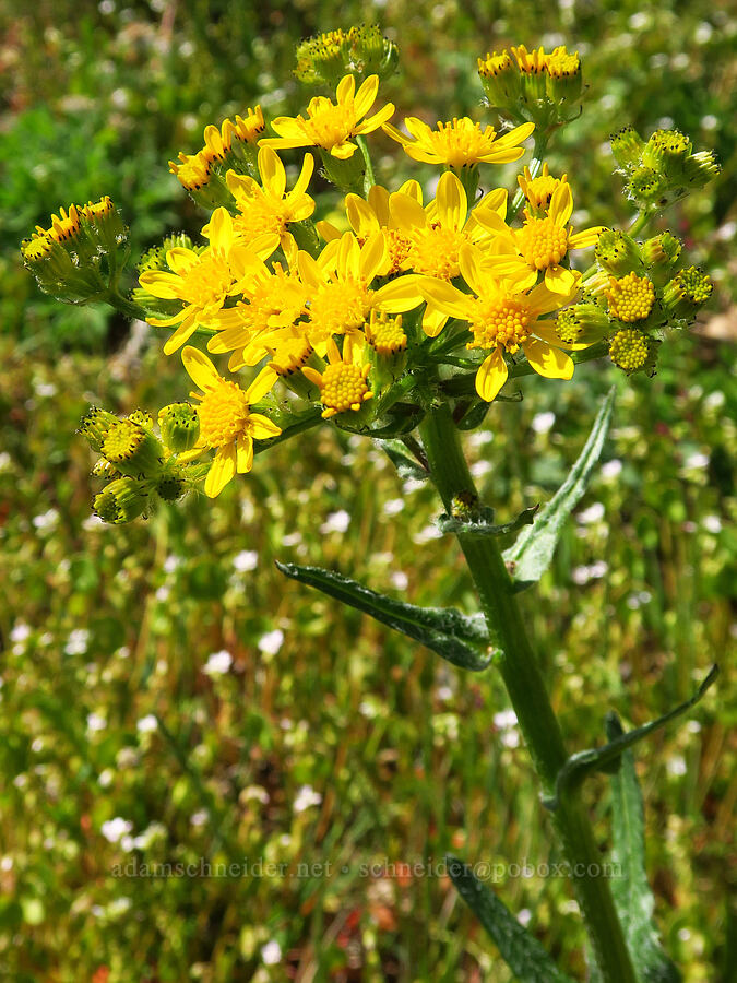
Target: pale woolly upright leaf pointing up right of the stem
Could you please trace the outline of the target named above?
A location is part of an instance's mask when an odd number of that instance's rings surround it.
[[[599,459],[611,423],[615,390],[609,390],[594,421],[589,439],[578,461],[554,498],[545,506],[530,529],[523,530],[516,543],[504,553],[512,579],[522,589],[539,580],[550,566],[566,520],[580,501]]]

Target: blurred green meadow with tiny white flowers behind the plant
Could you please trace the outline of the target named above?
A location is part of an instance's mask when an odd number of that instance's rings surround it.
[[[320,564],[469,609],[429,490],[403,484],[378,447],[324,430],[261,458],[215,505],[102,525],[80,415],[91,402],[162,405],[181,398],[185,375],[153,331],[40,295],[17,257],[50,211],[106,192],[134,251],[197,232],[201,214],[167,159],[257,100],[297,110],[295,42],[365,20],[366,5],[41,0],[21,11],[4,0],[0,15],[0,979],[508,981],[448,880],[400,866],[451,848],[492,864],[555,862],[500,685],[338,613],[273,564]],[[666,945],[687,983],[726,981],[737,880],[729,5],[387,0],[375,19],[401,48],[388,96],[429,121],[482,118],[475,59],[487,48],[578,48],[589,98],[550,162],[569,173],[579,223],[629,217],[606,144],[618,126],[647,132],[667,118],[722,159],[720,181],[666,216],[717,281],[704,323],[663,346],[652,381],[605,366],[564,387],[528,380],[524,402],[495,406],[468,448],[503,520],[550,497],[617,383],[602,475],[525,609],[574,747],[599,739],[609,707],[642,723],[725,663],[696,720],[654,738],[640,768]],[[379,146],[388,170],[394,150]],[[591,802],[605,844],[604,782]],[[130,876],[201,857],[250,873]],[[259,858],[288,865],[284,876],[260,876]],[[307,878],[299,863],[331,866]],[[566,884],[508,874],[497,887],[582,974]]]

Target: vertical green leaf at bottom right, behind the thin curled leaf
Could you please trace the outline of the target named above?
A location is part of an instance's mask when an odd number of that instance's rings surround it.
[[[616,713],[608,715],[606,730],[610,742],[625,735]],[[654,899],[645,873],[644,806],[631,750],[619,758],[610,782],[611,860],[621,869],[621,876],[611,879],[611,893],[635,972],[642,983],[679,983],[681,974],[661,948],[653,924]]]

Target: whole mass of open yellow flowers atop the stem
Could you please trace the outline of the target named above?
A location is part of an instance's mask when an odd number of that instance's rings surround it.
[[[316,97],[305,116],[273,120],[278,135],[259,140],[251,173],[224,165],[236,135],[259,138],[260,115],[249,116],[255,122],[248,133],[240,118],[219,130],[209,127],[197,159],[182,155],[173,165],[185,185],[217,165],[229,201],[203,227],[204,247],[174,246],[141,273],[141,295],[159,305],[148,321],[175,329],[167,354],[198,332],[211,355],[228,355],[230,371],[260,367],[241,389],[198,348],[183,348],[185,367],[199,387],[192,393],[199,437],[187,453],[215,451],[205,484],[211,496],[251,469],[254,440],[280,435],[271,418],[283,422],[284,404],[271,395],[277,383],[320,403],[323,417],[355,427],[370,424],[413,360],[436,344],[469,351],[464,357],[475,366],[476,390],[486,401],[507,379],[507,356],[524,354],[536,372],[570,379],[573,362],[563,350],[584,347],[564,342],[552,319],[578,299],[580,274],[569,267],[570,252],[594,245],[599,233],[570,228],[566,176],[554,177],[546,167],[532,178],[525,170],[520,185],[528,210],[514,227],[507,221],[504,189],[472,202],[456,173],[518,159],[533,125],[499,135],[467,118],[431,130],[411,117],[405,137],[388,123],[391,104],[367,116],[378,84],[372,75],[356,90],[346,75],[335,102]],[[348,161],[358,138],[380,127],[413,159],[451,168],[435,197],[426,201],[415,180],[396,190],[373,185],[365,196],[348,193],[344,214],[316,225],[312,154],[304,155],[287,190],[277,150],[316,147],[323,162]],[[170,312],[161,317],[162,309]]]

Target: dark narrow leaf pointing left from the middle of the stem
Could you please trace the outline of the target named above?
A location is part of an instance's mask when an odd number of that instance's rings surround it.
[[[416,607],[369,590],[356,580],[320,567],[276,566],[287,577],[317,588],[343,604],[413,638],[461,668],[480,672],[490,664],[489,637],[483,617],[467,617],[455,608]]]

